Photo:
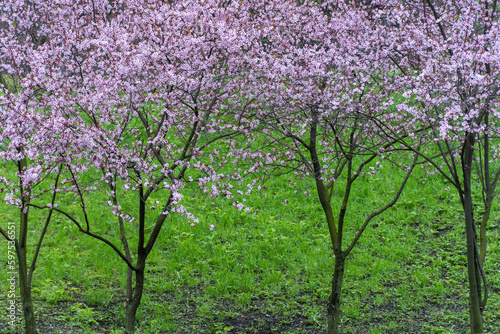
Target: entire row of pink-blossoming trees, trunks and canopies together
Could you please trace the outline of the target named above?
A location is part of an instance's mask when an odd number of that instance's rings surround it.
[[[348,255],[425,163],[463,205],[470,326],[482,333],[486,225],[500,175],[497,17],[496,1],[477,0],[1,3],[0,158],[16,170],[0,179],[20,211],[26,332],[36,333],[31,284],[54,213],[127,264],[125,332],[133,333],[166,218],[196,220],[182,206],[184,186],[231,198],[263,174],[292,171],[314,180],[324,210],[335,254],[328,333],[337,333]],[[352,187],[392,158],[405,162],[405,177],[346,247]],[[474,166],[484,195],[480,249]],[[93,231],[95,192],[109,198],[116,239]],[[131,201],[136,209],[126,212]],[[33,209],[48,214],[28,261]]]

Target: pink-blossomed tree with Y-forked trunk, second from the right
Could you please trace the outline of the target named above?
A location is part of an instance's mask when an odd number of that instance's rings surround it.
[[[253,106],[245,116],[255,126],[252,140],[233,156],[241,154],[245,161],[249,146],[251,158],[261,161],[249,172],[314,180],[335,255],[328,333],[338,333],[345,262],[370,221],[396,203],[418,163],[413,154],[396,158],[397,142],[413,132],[418,146],[423,132],[396,113],[399,86],[390,73],[397,67],[386,61],[380,42],[387,24],[373,17],[372,8],[336,1],[254,1],[250,11],[247,31],[256,30],[252,35],[262,43],[255,42],[242,62],[247,99],[241,105]],[[373,119],[398,135],[388,138]],[[384,205],[368,208],[361,222],[351,221],[352,187],[391,158],[406,161],[406,175],[395,180],[393,193],[384,194]],[[345,233],[348,224],[357,227],[352,236]]]

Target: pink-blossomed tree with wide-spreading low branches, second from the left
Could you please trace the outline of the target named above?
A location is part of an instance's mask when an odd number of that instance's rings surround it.
[[[18,25],[32,2],[19,3],[11,8]],[[81,212],[62,203],[29,206],[66,216],[127,264],[125,332],[133,333],[147,258],[167,217],[197,223],[182,206],[184,185],[222,178],[212,165],[220,153],[210,147],[245,128],[219,105],[241,91],[234,59],[248,48],[236,34],[246,12],[240,3],[196,0],[35,3],[45,43],[20,59],[28,69],[22,94],[9,99],[21,104],[30,96],[26,111],[52,121],[30,131],[52,133],[60,149],[43,148],[31,159],[59,159],[62,191],[76,197]],[[231,196],[220,187],[212,193],[220,191]],[[93,230],[103,219],[89,210],[96,192],[109,198],[102,204],[116,217],[108,222],[114,236]],[[135,208],[125,210],[127,201]]]

